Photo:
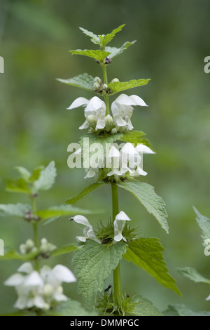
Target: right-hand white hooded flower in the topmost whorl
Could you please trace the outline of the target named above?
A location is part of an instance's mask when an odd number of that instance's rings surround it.
[[[143,107],[148,106],[144,100],[137,95],[128,96],[126,94],[121,94],[116,98],[111,104],[111,112],[113,114],[115,125],[128,128],[130,131],[134,128],[130,120],[134,110],[132,105],[141,105]]]

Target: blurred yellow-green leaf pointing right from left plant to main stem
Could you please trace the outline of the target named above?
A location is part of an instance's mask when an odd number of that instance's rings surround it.
[[[86,209],[80,209],[72,205],[60,205],[53,206],[46,210],[37,211],[37,216],[41,217],[41,220],[59,217],[59,216],[76,216],[76,214],[91,214],[97,211],[90,211]]]

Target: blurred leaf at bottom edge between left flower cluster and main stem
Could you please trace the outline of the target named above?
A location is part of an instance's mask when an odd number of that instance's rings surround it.
[[[48,316],[96,316],[95,312],[87,312],[78,301],[72,301],[70,298],[64,303],[59,303],[57,307],[45,312]],[[69,320],[71,326],[71,320]],[[72,321],[74,322],[74,321]],[[73,324],[72,324],[73,325]]]

